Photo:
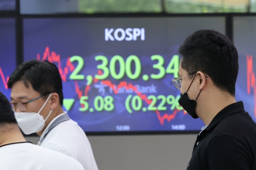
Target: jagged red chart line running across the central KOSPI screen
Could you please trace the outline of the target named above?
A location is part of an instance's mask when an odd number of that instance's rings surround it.
[[[40,54],[37,54],[37,59],[40,60]],[[42,60],[46,60],[48,59],[48,61],[50,61],[51,63],[58,63],[58,70],[60,72],[60,76],[63,80],[63,82],[66,82],[66,75],[69,73],[69,72],[72,72],[74,71],[75,67],[74,65],[70,62],[70,57],[68,57],[68,60],[67,60],[67,63],[66,63],[66,66],[64,67],[64,71],[62,70],[62,66],[61,66],[61,59],[60,59],[60,55],[56,54],[56,52],[52,51],[50,53],[50,49],[49,47],[46,47],[45,51],[44,51],[44,55],[42,57]],[[101,70],[98,70],[98,74],[101,75],[102,74],[102,71]],[[2,75],[2,74],[1,74]],[[2,76],[3,78],[3,76]],[[5,80],[5,79],[4,79]],[[4,81],[3,80],[3,81]],[[98,82],[99,80],[96,79],[96,78],[93,78],[93,82],[96,83]],[[113,90],[113,92],[115,94],[118,94],[118,90],[122,87],[125,87],[126,90],[129,90],[129,89],[132,89],[138,96],[140,96],[140,98],[142,100],[144,100],[148,105],[151,104],[152,100],[148,100],[147,96],[145,94],[142,94],[141,92],[139,92],[137,90],[137,87],[132,85],[131,83],[128,83],[128,82],[120,82],[118,85],[116,84],[112,84],[112,82],[110,80],[101,80],[102,84],[108,86],[109,88],[111,88]],[[78,86],[78,81],[74,80],[74,83],[75,83],[75,89],[76,89],[76,94],[78,95],[78,98],[80,99],[83,94],[82,94],[82,90],[80,90],[79,86]],[[91,84],[90,84],[91,85]],[[90,85],[86,85],[86,88],[85,88],[85,96],[88,96],[88,91],[90,90]],[[81,104],[81,106],[83,106]],[[166,119],[168,122],[170,122],[172,119],[174,119],[176,117],[176,114],[178,112],[180,112],[178,109],[174,109],[173,113],[172,114],[167,114],[165,113],[163,116],[161,116],[160,114],[160,111],[159,110],[156,110],[156,115],[157,115],[157,118],[158,120],[160,121],[160,124],[161,125],[164,125],[164,120]],[[186,115],[186,112],[184,111],[184,114]]]

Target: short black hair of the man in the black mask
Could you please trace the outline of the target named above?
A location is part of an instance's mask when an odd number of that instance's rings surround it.
[[[186,38],[178,50],[181,67],[191,74],[202,71],[220,90],[236,92],[238,53],[232,41],[218,31],[199,30]]]

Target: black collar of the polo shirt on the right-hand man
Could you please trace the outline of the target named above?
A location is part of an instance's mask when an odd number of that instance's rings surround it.
[[[224,109],[222,109],[211,121],[211,123],[204,129],[209,130],[212,127],[214,127],[216,124],[218,124],[224,117],[231,115],[233,113],[237,112],[245,112],[244,110],[244,103],[242,101],[236,102],[233,104],[230,104],[226,106]]]

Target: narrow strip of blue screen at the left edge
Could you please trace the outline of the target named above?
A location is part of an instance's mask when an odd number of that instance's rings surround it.
[[[0,92],[10,99],[9,76],[16,68],[15,19],[0,18]]]

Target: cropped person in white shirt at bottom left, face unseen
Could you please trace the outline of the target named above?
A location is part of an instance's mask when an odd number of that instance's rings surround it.
[[[0,170],[84,170],[70,156],[27,142],[0,92]]]

